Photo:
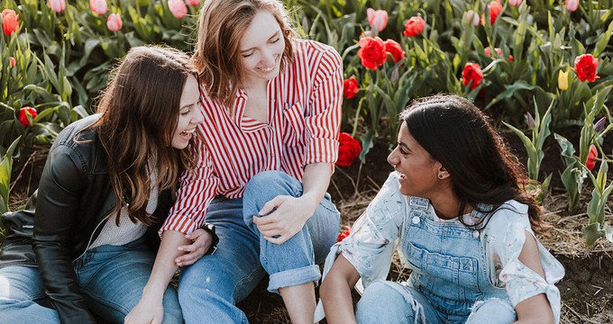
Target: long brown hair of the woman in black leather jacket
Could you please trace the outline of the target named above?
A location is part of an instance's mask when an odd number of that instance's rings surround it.
[[[131,220],[150,226],[145,209],[151,185],[175,189],[180,171],[194,166],[193,146],[171,145],[188,76],[197,76],[189,56],[161,46],[130,49],[111,73],[98,105],[102,116],[91,127],[108,154],[117,224],[125,205]],[[152,172],[158,175],[156,184],[151,184]]]

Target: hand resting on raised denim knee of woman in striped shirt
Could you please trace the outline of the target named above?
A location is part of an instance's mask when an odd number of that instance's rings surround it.
[[[281,245],[305,226],[316,206],[303,197],[279,195],[264,204],[260,215],[266,216],[254,215],[253,223],[270,243]]]

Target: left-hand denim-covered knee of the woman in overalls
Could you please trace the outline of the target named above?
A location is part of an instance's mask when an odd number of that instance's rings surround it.
[[[397,283],[376,281],[366,287],[356,305],[359,323],[412,323],[415,302]]]

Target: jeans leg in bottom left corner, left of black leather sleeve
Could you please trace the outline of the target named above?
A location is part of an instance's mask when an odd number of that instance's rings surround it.
[[[0,268],[0,317],[3,323],[59,323],[58,311],[41,306],[47,299],[38,268]],[[46,301],[47,303],[49,301]]]

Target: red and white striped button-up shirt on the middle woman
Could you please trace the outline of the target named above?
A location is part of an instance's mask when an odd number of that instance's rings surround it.
[[[262,171],[282,170],[298,180],[304,166],[334,166],[343,102],[343,61],[335,49],[314,40],[293,40],[294,61],[270,80],[269,123],[244,116],[247,94],[239,89],[234,114],[202,93],[205,122],[198,127],[194,172],[180,178],[177,202],[160,233],[190,233],[205,221],[215,195],[242,197],[245,185]]]

